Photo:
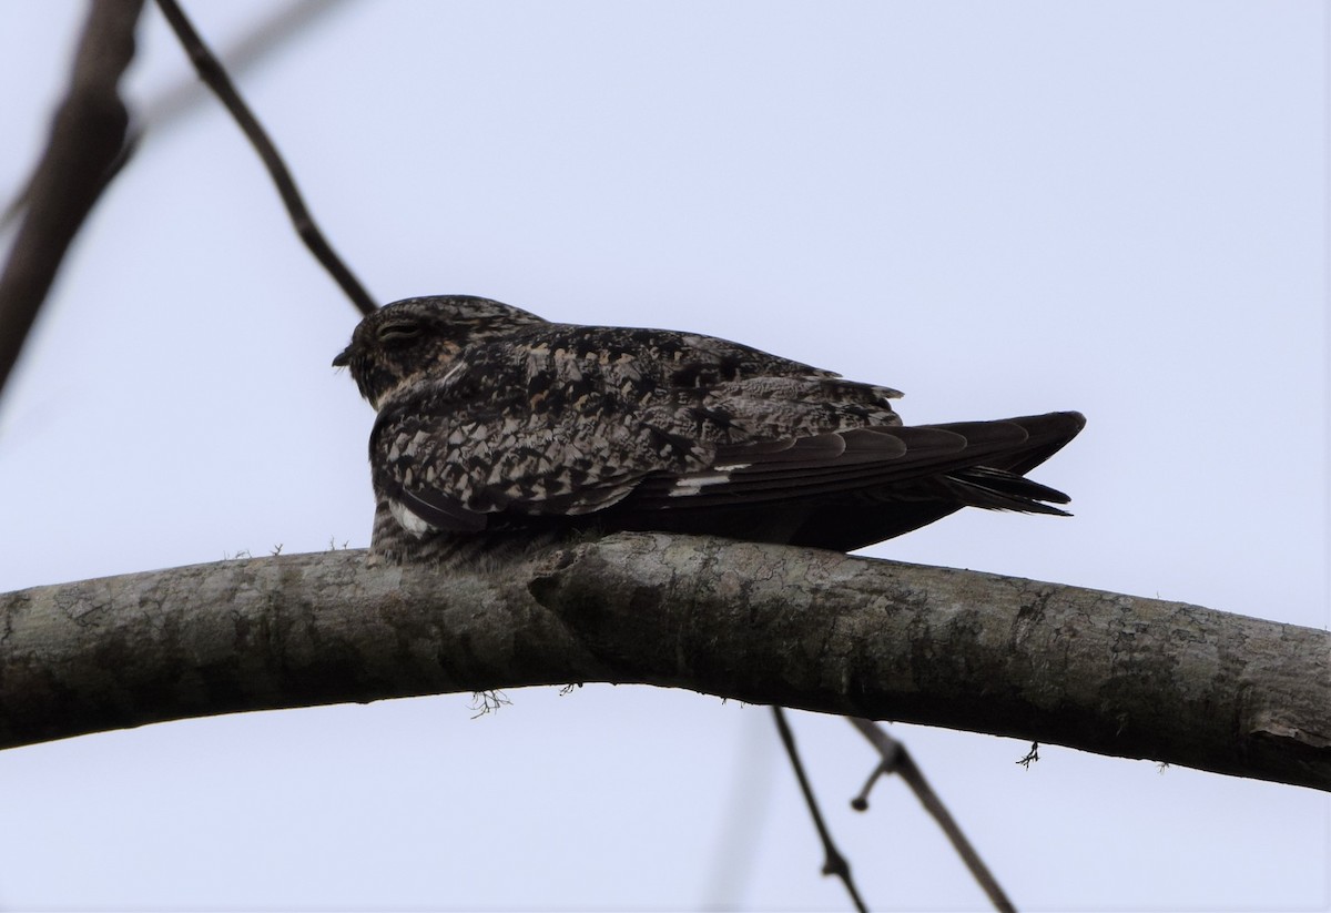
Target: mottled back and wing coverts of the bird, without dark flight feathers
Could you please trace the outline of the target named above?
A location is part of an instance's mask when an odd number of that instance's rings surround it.
[[[827,430],[897,422],[896,395],[712,337],[556,325],[382,403],[374,482],[417,534],[578,516],[650,478],[701,490],[727,447],[812,455]]]

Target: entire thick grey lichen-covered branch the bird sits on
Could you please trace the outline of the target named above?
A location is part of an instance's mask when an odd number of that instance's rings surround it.
[[[619,535],[490,575],[293,555],[8,594],[0,624],[0,747],[615,681],[1331,789],[1326,631],[823,551]]]

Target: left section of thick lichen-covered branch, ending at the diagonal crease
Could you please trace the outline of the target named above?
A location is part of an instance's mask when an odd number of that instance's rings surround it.
[[[0,596],[0,747],[189,716],[595,677],[519,583],[361,551]]]

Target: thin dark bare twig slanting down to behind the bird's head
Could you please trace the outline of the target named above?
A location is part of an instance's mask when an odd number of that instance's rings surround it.
[[[217,57],[204,44],[204,40],[194,31],[194,27],[185,17],[176,0],[157,0],[157,5],[161,8],[162,15],[166,16],[166,21],[176,32],[176,37],[180,39],[181,45],[189,55],[190,63],[194,64],[194,69],[198,71],[200,79],[226,105],[232,117],[236,118],[236,122],[240,124],[240,128],[245,132],[256,152],[258,152],[260,158],[264,160],[264,165],[273,177],[277,192],[282,196],[282,202],[286,205],[286,212],[290,214],[291,222],[295,225],[295,233],[301,237],[301,241],[305,242],[305,246],[314,254],[314,258],[337,281],[342,291],[346,293],[346,297],[351,299],[351,303],[362,314],[371,313],[377,307],[374,299],[347,265],[342,262],[342,258],[337,256],[327,238],[323,237],[323,233],[315,225],[314,217],[310,216],[309,209],[305,206],[301,192],[295,188],[295,180],[277,152],[277,146],[273,145],[273,141],[268,137],[262,125],[260,125],[258,118],[254,117],[249,105],[241,98],[230,77],[226,76],[226,71],[222,69]]]

